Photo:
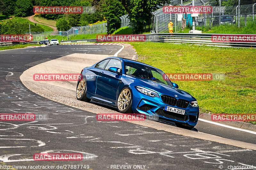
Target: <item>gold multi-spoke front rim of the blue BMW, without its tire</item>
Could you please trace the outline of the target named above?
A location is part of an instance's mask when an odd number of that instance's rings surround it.
[[[123,111],[127,108],[129,105],[129,102],[131,100],[131,92],[129,89],[124,89],[118,97],[117,100],[117,107],[120,111]]]

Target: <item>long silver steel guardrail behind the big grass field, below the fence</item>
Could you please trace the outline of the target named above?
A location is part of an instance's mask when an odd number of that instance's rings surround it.
[[[168,42],[173,44],[195,44],[217,47],[232,47],[232,48],[256,48],[256,42],[213,42],[212,35],[223,34],[192,34],[192,33],[154,33],[145,34],[146,41],[149,42]],[[233,34],[234,35],[234,34]],[[236,36],[244,36],[244,34],[236,34]],[[256,39],[255,39],[256,40]],[[97,42],[96,39],[87,40],[69,40],[60,41],[60,43],[79,43],[79,42]],[[98,41],[100,42],[100,41]]]

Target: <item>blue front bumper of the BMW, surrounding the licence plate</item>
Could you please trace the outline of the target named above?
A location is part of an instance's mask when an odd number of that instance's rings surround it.
[[[132,89],[132,111],[145,115],[157,115],[160,119],[166,119],[172,122],[187,123],[196,126],[199,116],[199,107],[188,105],[187,108],[168,105],[163,102],[161,96],[150,97],[139,92],[135,87]],[[185,115],[165,111],[164,107],[170,106],[185,110]]]

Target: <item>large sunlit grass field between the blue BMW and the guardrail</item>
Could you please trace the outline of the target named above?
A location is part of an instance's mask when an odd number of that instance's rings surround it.
[[[165,73],[224,73],[227,77],[223,81],[175,81],[197,99],[202,112],[256,112],[256,49],[129,43],[139,54],[139,61]]]

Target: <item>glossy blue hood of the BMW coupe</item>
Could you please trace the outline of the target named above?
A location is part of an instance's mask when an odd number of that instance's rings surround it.
[[[184,90],[177,89],[175,87],[171,87],[169,85],[164,85],[162,83],[157,83],[155,81],[147,80],[147,79],[143,79],[143,78],[132,77],[132,79],[136,79],[137,82],[139,81],[138,83],[140,83],[141,86],[144,86],[145,88],[149,88],[149,89],[157,92],[160,95],[165,94],[165,95],[175,97],[176,99],[184,99],[184,100],[188,100],[188,101],[196,100],[188,92],[186,92]],[[140,85],[138,84],[138,86],[140,86]],[[176,97],[175,95],[177,95],[178,97]]]

